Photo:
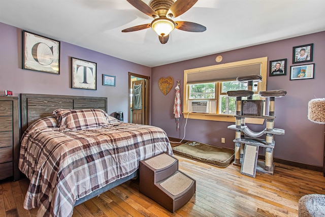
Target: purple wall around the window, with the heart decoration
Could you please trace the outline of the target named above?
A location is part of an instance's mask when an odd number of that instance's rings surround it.
[[[245,59],[268,57],[268,61],[287,58],[287,75],[273,76],[267,79],[267,90],[285,89],[287,95],[275,100],[275,128],[285,130],[285,135],[275,135],[274,158],[294,161],[314,166],[323,164],[324,126],[307,119],[308,102],[314,98],[325,96],[325,32],[281,40],[263,45],[213,54],[201,58],[190,59],[179,63],[152,68],[152,112],[151,124],[163,128],[167,135],[183,138],[185,118],[180,120],[180,130],[176,131],[173,116],[175,89],[164,95],[158,88],[158,79],[172,76],[181,80],[181,95],[183,94],[184,70],[216,65],[215,57],[222,55],[220,64],[231,63]],[[293,47],[314,44],[315,63],[314,79],[290,81],[290,66],[292,64]],[[295,64],[298,66],[302,64]],[[269,69],[269,66],[268,66]],[[268,70],[269,71],[269,70]],[[269,73],[269,72],[268,72]],[[182,95],[183,96],[183,95]],[[220,147],[234,148],[235,132],[227,129],[231,122],[188,119],[186,125],[186,140],[194,140]],[[249,125],[254,131],[261,131],[265,125]],[[225,143],[221,143],[221,137]]]

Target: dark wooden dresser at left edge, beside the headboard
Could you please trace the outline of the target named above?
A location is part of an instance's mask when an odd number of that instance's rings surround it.
[[[0,179],[19,179],[18,97],[0,97]]]

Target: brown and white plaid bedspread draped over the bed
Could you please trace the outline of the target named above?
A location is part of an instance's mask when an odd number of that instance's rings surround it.
[[[160,128],[120,123],[94,130],[28,129],[19,169],[29,178],[24,208],[38,216],[71,216],[76,200],[138,169],[139,161],[173,154]]]

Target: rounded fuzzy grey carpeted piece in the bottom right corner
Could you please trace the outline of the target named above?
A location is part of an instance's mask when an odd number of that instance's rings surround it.
[[[324,217],[325,195],[310,194],[300,198],[298,203],[299,217]]]

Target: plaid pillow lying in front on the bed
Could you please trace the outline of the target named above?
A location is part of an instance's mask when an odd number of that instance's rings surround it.
[[[101,109],[56,109],[53,111],[60,130],[88,130],[109,126],[107,114]]]

